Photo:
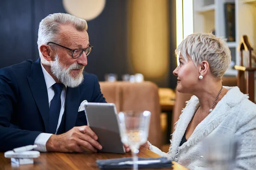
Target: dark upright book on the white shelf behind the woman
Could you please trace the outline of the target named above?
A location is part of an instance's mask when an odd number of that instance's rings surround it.
[[[235,3],[224,4],[225,30],[227,41],[236,41]]]

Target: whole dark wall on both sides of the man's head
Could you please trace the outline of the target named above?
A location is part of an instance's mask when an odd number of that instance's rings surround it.
[[[96,74],[100,81],[106,73],[121,79],[127,74],[127,0],[107,0],[102,14],[88,21],[90,44],[85,71]],[[0,3],[0,68],[38,59],[38,26],[49,14],[66,13],[62,0],[1,0]]]

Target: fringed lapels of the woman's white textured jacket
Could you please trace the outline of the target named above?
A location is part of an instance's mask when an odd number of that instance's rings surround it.
[[[180,118],[175,126],[175,132],[172,137],[172,148],[171,148],[171,157],[175,161],[176,154],[179,153],[180,149],[184,147],[190,147],[196,144],[198,141],[202,140],[204,137],[208,136],[216,127],[224,120],[224,118],[231,113],[230,109],[234,106],[239,105],[241,100],[248,98],[247,95],[244,95],[240,92],[238,87],[225,87],[229,91],[224,97],[217,103],[215,108],[209,115],[198,124],[195,128],[192,135],[189,137],[188,141],[185,142],[182,146],[179,147],[181,139],[186,131],[186,128],[192,119],[192,116],[195,112],[195,109],[198,105],[198,98],[192,96],[192,98],[187,103],[186,107],[183,109],[183,114],[180,115]]]

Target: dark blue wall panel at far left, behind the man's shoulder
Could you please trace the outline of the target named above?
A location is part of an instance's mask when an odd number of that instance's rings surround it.
[[[32,54],[31,0],[0,2],[0,68],[35,59]]]

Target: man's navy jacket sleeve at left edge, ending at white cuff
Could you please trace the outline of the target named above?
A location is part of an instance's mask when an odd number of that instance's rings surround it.
[[[0,70],[0,152],[34,144],[41,132],[12,128],[11,117],[18,105],[18,87],[12,71]]]

